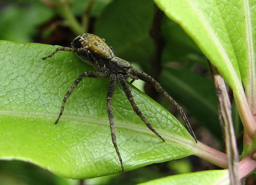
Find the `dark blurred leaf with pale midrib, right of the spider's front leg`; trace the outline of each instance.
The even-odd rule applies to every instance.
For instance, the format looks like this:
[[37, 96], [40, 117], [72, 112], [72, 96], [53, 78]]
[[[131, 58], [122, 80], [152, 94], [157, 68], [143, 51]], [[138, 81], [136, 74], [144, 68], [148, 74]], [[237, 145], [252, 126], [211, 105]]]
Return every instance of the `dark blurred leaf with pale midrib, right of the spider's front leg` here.
[[187, 70], [165, 67], [159, 81], [167, 93], [181, 105], [185, 105], [189, 113], [222, 140], [212, 80]]

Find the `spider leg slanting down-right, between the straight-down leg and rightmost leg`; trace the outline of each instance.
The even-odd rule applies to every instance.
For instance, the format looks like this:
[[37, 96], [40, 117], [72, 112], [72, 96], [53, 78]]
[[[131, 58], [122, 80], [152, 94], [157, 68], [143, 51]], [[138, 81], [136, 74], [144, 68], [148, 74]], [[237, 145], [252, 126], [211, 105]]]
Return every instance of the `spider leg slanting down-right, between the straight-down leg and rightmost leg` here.
[[144, 117], [144, 115], [140, 112], [139, 108], [137, 107], [137, 105], [135, 104], [131, 91], [125, 81], [125, 78], [122, 74], [118, 74], [117, 75], [118, 80], [126, 94], [126, 97], [128, 99], [128, 101], [131, 104], [132, 109], [134, 110], [134, 112], [140, 117], [140, 119], [146, 124], [146, 126], [154, 133], [156, 134], [161, 140], [163, 140], [165, 142], [165, 139], [153, 128], [153, 126], [149, 123], [149, 121]]

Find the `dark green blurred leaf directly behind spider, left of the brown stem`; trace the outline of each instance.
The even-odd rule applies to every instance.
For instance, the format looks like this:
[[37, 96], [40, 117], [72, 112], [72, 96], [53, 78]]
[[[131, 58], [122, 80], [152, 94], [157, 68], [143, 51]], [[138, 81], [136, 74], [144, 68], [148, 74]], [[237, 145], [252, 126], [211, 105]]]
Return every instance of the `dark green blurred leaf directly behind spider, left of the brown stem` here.
[[118, 57], [148, 69], [153, 51], [149, 36], [153, 14], [153, 1], [113, 0], [96, 22], [94, 34], [106, 39]]

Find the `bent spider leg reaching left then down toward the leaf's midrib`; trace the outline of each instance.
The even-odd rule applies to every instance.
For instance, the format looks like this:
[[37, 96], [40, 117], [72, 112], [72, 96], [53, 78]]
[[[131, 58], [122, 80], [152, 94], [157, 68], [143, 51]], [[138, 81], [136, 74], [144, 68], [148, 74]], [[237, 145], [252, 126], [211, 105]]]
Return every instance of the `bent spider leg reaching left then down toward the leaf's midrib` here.
[[76, 86], [79, 84], [79, 82], [81, 82], [81, 80], [83, 79], [83, 77], [91, 77], [91, 78], [106, 78], [108, 76], [108, 73], [106, 72], [84, 72], [82, 73], [81, 75], [79, 75], [76, 79], [76, 81], [72, 84], [72, 86], [68, 89], [67, 93], [65, 94], [64, 96], [64, 99], [62, 101], [62, 105], [61, 105], [61, 109], [60, 109], [60, 112], [59, 112], [59, 116], [58, 118], [56, 119], [55, 121], [55, 124], [58, 123], [62, 113], [63, 113], [63, 110], [64, 110], [64, 107], [65, 107], [65, 103], [66, 103], [66, 100], [68, 99], [68, 97], [70, 96], [70, 94], [74, 91], [74, 89], [76, 88]]

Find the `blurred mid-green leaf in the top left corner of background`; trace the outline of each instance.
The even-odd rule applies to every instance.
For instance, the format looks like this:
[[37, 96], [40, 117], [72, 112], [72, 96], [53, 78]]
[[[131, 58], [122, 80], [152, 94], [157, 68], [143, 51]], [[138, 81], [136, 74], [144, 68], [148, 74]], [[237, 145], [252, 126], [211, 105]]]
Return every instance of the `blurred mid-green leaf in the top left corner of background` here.
[[10, 4], [0, 11], [0, 40], [32, 41], [39, 25], [53, 16], [41, 3]]

